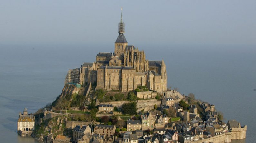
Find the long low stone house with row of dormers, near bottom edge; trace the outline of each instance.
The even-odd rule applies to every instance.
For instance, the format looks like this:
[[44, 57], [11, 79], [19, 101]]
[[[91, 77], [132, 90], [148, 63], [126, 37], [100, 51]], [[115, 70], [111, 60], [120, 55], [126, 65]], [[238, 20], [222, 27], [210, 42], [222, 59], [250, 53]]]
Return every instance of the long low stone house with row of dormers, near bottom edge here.
[[116, 125], [95, 125], [94, 126], [94, 133], [106, 135], [108, 137], [112, 137], [115, 133]]

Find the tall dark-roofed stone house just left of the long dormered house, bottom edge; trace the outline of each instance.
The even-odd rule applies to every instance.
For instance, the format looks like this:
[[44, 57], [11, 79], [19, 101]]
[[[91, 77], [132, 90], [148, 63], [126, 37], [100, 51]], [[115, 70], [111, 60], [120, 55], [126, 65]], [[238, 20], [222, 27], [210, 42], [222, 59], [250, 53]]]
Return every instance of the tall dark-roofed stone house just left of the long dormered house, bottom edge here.
[[87, 133], [88, 134], [91, 133], [91, 128], [89, 126], [85, 126], [85, 125], [76, 126], [75, 128], [73, 128], [73, 142], [77, 143], [78, 139], [81, 139], [81, 140], [88, 139], [87, 136], [85, 136], [85, 134]]

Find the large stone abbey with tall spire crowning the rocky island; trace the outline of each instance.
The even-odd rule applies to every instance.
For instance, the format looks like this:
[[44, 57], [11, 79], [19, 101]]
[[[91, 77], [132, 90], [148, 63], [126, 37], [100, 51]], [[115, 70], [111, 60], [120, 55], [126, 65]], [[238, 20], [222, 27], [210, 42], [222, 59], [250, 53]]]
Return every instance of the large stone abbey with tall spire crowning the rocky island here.
[[69, 70], [65, 85], [96, 85], [96, 89], [128, 92], [137, 86], [161, 92], [167, 88], [167, 73], [164, 60], [150, 61], [144, 51], [128, 45], [124, 36], [124, 23], [119, 23], [114, 52], [99, 52], [96, 61], [84, 63], [80, 68]]

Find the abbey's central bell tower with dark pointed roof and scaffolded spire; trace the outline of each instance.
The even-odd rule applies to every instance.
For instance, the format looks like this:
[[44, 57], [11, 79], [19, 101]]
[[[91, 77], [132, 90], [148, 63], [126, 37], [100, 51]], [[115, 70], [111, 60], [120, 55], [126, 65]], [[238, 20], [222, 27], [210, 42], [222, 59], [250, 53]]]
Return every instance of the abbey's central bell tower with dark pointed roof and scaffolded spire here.
[[125, 47], [128, 45], [124, 36], [124, 22], [123, 22], [122, 10], [123, 8], [121, 8], [121, 21], [118, 24], [119, 35], [115, 42], [115, 55], [118, 55], [119, 57], [122, 57], [122, 55], [124, 55]]

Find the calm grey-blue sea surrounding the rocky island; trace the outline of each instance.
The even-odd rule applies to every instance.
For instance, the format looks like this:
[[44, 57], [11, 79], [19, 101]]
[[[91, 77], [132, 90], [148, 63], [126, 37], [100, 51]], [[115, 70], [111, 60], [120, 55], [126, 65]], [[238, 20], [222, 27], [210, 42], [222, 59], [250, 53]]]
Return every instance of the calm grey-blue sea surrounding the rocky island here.
[[[247, 139], [234, 143], [255, 142], [256, 48], [199, 47], [141, 44], [140, 49], [149, 60], [165, 60], [168, 85], [215, 104], [226, 121], [247, 125]], [[68, 69], [93, 62], [97, 52], [113, 50], [111, 44], [0, 45], [0, 142], [37, 142], [17, 135], [18, 113], [24, 107], [33, 113], [52, 102], [62, 91]]]

